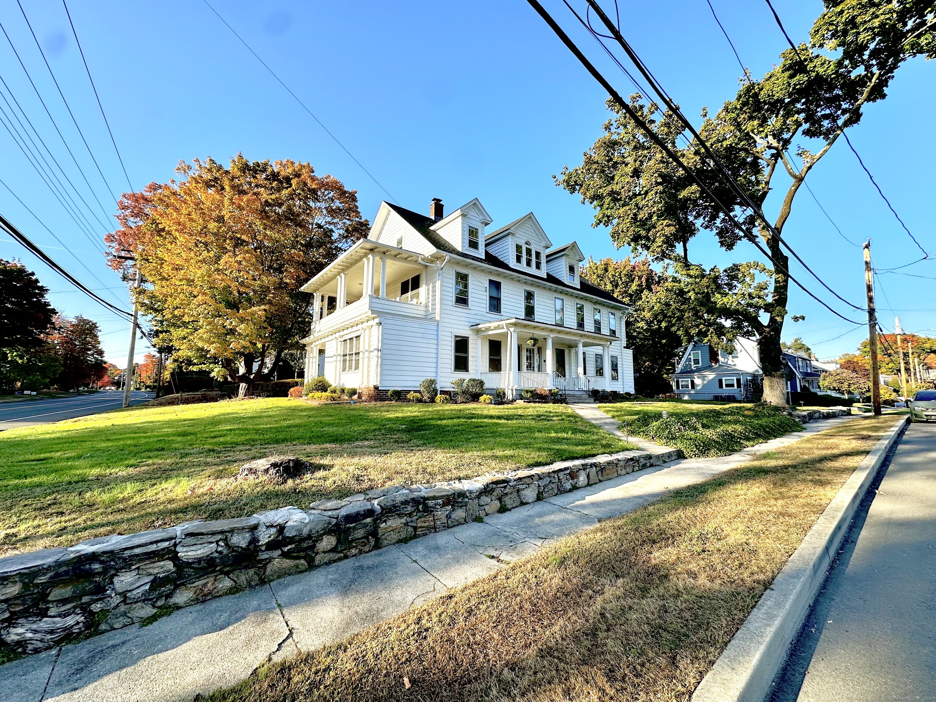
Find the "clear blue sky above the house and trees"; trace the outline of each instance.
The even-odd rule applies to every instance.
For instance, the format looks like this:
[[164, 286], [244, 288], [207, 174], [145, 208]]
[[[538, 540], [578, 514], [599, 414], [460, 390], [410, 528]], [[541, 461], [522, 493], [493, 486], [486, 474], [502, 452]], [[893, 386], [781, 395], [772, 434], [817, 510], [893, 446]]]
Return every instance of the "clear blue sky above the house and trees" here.
[[[581, 0], [577, 4], [584, 7]], [[766, 4], [736, 0], [712, 0], [712, 4], [745, 65], [755, 76], [763, 75], [785, 46]], [[525, 2], [212, 0], [212, 5], [402, 206], [428, 213], [431, 198], [442, 197], [450, 211], [479, 197], [494, 217], [494, 226], [533, 211], [555, 243], [578, 240], [586, 256], [596, 258], [626, 255], [614, 248], [607, 231], [591, 227], [591, 208], [555, 187], [551, 178], [565, 165], [578, 165], [581, 153], [599, 135], [607, 119], [607, 95]], [[578, 30], [561, 2], [548, 0], [545, 5], [622, 94], [634, 92], [593, 40]], [[110, 183], [110, 193], [71, 123], [16, 3], [0, 7], [0, 22], [100, 207], [5, 37], [0, 37], [0, 75], [104, 222], [92, 220], [93, 236], [99, 239], [105, 224], [113, 227], [114, 196], [128, 186], [61, 0], [32, 0], [23, 7]], [[778, 0], [775, 7], [795, 40], [807, 36], [821, 10], [819, 2], [791, 0]], [[388, 198], [201, 0], [157, 4], [72, 0], [69, 9], [134, 187], [165, 182], [180, 159], [211, 155], [227, 160], [242, 152], [252, 159], [310, 161], [319, 173], [331, 173], [357, 189], [361, 212], [368, 218], [373, 218], [380, 200]], [[624, 35], [687, 115], [697, 117], [704, 106], [717, 109], [735, 94], [740, 69], [705, 0], [622, 2], [621, 10]], [[7, 110], [2, 100], [0, 104]], [[885, 193], [928, 251], [936, 251], [930, 212], [936, 186], [936, 173], [930, 168], [934, 109], [936, 66], [914, 61], [901, 67], [890, 96], [870, 106], [862, 123], [850, 132]], [[0, 178], [66, 247], [2, 186], [0, 212], [83, 283], [106, 288], [101, 294], [128, 306], [119, 276], [105, 266], [93, 241], [51, 196], [2, 127], [0, 149]], [[877, 267], [891, 268], [919, 257], [844, 143], [834, 147], [809, 182], [845, 236], [855, 242], [872, 238]], [[768, 212], [775, 209], [775, 201], [768, 204]], [[805, 191], [797, 196], [796, 212], [784, 236], [829, 285], [863, 304], [860, 248], [841, 239]], [[755, 252], [744, 244], [735, 254], [725, 255], [702, 234], [691, 244], [690, 255], [711, 265], [751, 259]], [[124, 366], [128, 324], [75, 292], [5, 236], [0, 237], [0, 257], [22, 258], [37, 271], [52, 291], [53, 304], [64, 314], [95, 319], [107, 357]], [[892, 328], [894, 314], [900, 314], [905, 330], [936, 327], [932, 280], [936, 264], [927, 261], [901, 272], [931, 277], [882, 276], [883, 289], [878, 286], [877, 292], [885, 327]], [[810, 280], [804, 271], [799, 270], [799, 276], [804, 282]], [[820, 291], [814, 281], [809, 286]], [[821, 297], [831, 300], [822, 292]], [[851, 325], [797, 289], [789, 307], [791, 314], [805, 314], [806, 320], [788, 321], [784, 339], [801, 336], [820, 358], [854, 350], [864, 333], [862, 328], [849, 331]], [[862, 319], [841, 303], [838, 309]], [[831, 341], [844, 332], [848, 333]], [[141, 358], [146, 346], [137, 348]]]

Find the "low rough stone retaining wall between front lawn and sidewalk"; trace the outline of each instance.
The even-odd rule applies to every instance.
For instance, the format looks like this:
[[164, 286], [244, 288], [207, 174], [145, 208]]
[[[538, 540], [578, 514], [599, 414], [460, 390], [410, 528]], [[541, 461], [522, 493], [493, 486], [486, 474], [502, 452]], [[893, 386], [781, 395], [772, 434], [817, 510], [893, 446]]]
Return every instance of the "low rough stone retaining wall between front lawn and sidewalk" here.
[[0, 559], [0, 651], [44, 651], [680, 457], [623, 451], [10, 556]]

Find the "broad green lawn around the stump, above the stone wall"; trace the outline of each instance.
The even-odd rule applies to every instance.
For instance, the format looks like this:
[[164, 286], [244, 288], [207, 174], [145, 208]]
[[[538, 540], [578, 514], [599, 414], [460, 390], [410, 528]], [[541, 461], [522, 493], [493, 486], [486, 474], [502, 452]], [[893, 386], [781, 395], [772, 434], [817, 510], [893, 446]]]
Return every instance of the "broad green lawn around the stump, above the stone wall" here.
[[[626, 447], [564, 405], [143, 405], [0, 432], [0, 556]], [[236, 479], [272, 454], [317, 470]]]

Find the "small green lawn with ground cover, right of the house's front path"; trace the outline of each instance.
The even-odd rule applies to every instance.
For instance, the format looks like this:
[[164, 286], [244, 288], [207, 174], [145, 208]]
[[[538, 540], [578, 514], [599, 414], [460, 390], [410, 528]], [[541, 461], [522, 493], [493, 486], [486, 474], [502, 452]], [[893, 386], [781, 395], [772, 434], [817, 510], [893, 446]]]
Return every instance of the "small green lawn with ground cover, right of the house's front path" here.
[[802, 429], [796, 419], [762, 404], [617, 402], [598, 406], [627, 422], [631, 435], [681, 448], [688, 458], [726, 456]]

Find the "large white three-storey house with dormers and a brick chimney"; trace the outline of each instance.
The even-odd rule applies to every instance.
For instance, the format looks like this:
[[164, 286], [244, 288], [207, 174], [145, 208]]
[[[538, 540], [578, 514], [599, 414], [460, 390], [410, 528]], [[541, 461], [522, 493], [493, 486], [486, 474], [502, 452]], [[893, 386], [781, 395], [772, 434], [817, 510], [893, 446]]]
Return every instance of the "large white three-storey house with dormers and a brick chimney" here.
[[634, 391], [630, 308], [579, 280], [573, 241], [553, 248], [533, 212], [487, 231], [475, 198], [429, 217], [382, 202], [367, 239], [302, 286], [314, 295], [305, 377], [360, 388]]

